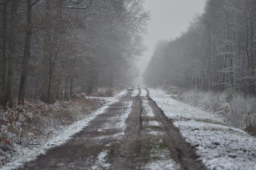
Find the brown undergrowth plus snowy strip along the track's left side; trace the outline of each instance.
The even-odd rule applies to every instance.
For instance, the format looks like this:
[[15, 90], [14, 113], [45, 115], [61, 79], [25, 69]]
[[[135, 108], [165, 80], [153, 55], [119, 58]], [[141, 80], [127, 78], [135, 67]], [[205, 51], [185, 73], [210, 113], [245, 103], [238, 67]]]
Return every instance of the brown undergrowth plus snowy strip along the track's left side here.
[[[126, 91], [122, 91], [120, 94], [125, 93]], [[116, 98], [88, 98], [78, 95], [70, 101], [58, 101], [54, 105], [26, 101], [25, 106], [1, 109], [0, 139], [4, 139], [0, 140], [2, 164], [15, 160], [5, 166], [5, 169], [11, 169], [66, 142], [116, 101]], [[91, 114], [107, 102], [110, 103]]]

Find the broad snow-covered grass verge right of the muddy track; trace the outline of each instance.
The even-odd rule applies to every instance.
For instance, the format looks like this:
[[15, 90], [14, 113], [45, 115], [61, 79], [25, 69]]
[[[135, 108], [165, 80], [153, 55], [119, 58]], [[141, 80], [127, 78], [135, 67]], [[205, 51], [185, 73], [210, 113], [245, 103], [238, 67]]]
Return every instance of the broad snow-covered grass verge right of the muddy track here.
[[172, 99], [164, 91], [149, 89], [151, 98], [172, 119], [195, 147], [209, 170], [256, 169], [256, 138], [228, 127], [218, 114], [207, 113]]

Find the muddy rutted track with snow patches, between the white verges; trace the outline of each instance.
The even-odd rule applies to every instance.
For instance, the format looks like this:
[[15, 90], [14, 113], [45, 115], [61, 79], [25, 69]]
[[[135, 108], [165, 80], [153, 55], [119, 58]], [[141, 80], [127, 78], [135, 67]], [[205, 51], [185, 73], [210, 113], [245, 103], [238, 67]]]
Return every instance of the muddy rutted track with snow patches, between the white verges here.
[[149, 91], [132, 94], [128, 89], [69, 142], [20, 170], [204, 170]]

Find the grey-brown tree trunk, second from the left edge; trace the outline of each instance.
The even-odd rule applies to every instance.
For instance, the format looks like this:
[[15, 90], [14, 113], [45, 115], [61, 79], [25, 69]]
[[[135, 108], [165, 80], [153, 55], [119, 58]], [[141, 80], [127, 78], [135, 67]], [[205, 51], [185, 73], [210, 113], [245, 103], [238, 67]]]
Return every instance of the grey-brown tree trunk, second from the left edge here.
[[17, 28], [17, 9], [18, 0], [12, 0], [11, 20], [10, 20], [10, 58], [8, 59], [8, 72], [6, 83], [5, 102], [9, 102], [10, 107], [13, 106], [13, 88], [14, 88], [14, 69], [15, 62], [15, 28]]

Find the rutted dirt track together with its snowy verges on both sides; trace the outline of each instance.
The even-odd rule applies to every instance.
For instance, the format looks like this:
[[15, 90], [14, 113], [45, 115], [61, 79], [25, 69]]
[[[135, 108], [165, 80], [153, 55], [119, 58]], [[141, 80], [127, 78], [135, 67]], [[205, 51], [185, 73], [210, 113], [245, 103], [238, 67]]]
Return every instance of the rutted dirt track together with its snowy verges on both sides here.
[[3, 169], [250, 170], [255, 141], [163, 91], [128, 89], [48, 142], [41, 155]]

